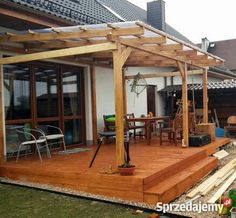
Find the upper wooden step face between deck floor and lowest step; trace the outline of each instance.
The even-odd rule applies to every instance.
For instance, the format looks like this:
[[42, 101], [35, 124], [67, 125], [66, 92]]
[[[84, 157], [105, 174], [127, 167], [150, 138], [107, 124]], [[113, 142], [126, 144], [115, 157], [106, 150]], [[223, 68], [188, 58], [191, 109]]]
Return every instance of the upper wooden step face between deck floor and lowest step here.
[[153, 173], [150, 176], [144, 178], [144, 190], [151, 188], [153, 185], [160, 183], [174, 174], [186, 169], [192, 164], [199, 162], [207, 157], [207, 154], [204, 150], [199, 151], [187, 158], [184, 158], [181, 161], [176, 161], [174, 164], [170, 164], [168, 167], [165, 167], [162, 170], [158, 170], [156, 173]]

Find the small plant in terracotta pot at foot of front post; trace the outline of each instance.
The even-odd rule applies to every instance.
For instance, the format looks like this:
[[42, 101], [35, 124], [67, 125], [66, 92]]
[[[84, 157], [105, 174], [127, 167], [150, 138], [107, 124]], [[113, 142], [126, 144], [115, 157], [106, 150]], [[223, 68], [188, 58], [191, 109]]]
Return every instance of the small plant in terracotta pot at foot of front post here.
[[134, 174], [135, 165], [130, 163], [129, 142], [125, 142], [125, 153], [124, 164], [118, 166], [118, 171], [121, 176], [130, 176]]

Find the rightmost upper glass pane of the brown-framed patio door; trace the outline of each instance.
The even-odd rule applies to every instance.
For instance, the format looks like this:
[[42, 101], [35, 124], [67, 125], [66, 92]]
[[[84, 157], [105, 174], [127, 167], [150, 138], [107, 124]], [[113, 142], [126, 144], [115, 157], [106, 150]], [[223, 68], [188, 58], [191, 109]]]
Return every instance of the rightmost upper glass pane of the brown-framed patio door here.
[[64, 115], [81, 114], [80, 75], [74, 72], [63, 73]]

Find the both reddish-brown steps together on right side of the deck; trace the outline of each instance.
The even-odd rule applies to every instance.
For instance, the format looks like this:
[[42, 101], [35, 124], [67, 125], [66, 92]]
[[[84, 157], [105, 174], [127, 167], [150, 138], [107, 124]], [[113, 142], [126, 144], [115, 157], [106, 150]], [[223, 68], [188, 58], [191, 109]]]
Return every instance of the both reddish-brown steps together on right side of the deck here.
[[159, 175], [150, 181], [144, 180], [144, 202], [156, 204], [157, 202], [169, 203], [180, 196], [202, 177], [209, 174], [217, 167], [217, 159], [199, 153], [184, 160], [178, 165], [170, 167], [169, 171], [158, 172]]

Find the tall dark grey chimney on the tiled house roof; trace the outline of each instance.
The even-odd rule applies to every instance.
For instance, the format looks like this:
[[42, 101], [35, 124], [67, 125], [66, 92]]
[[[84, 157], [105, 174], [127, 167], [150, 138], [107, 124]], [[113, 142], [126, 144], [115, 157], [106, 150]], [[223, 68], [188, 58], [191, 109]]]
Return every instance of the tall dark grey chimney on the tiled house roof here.
[[161, 31], [166, 31], [165, 2], [163, 0], [147, 3], [147, 22]]

